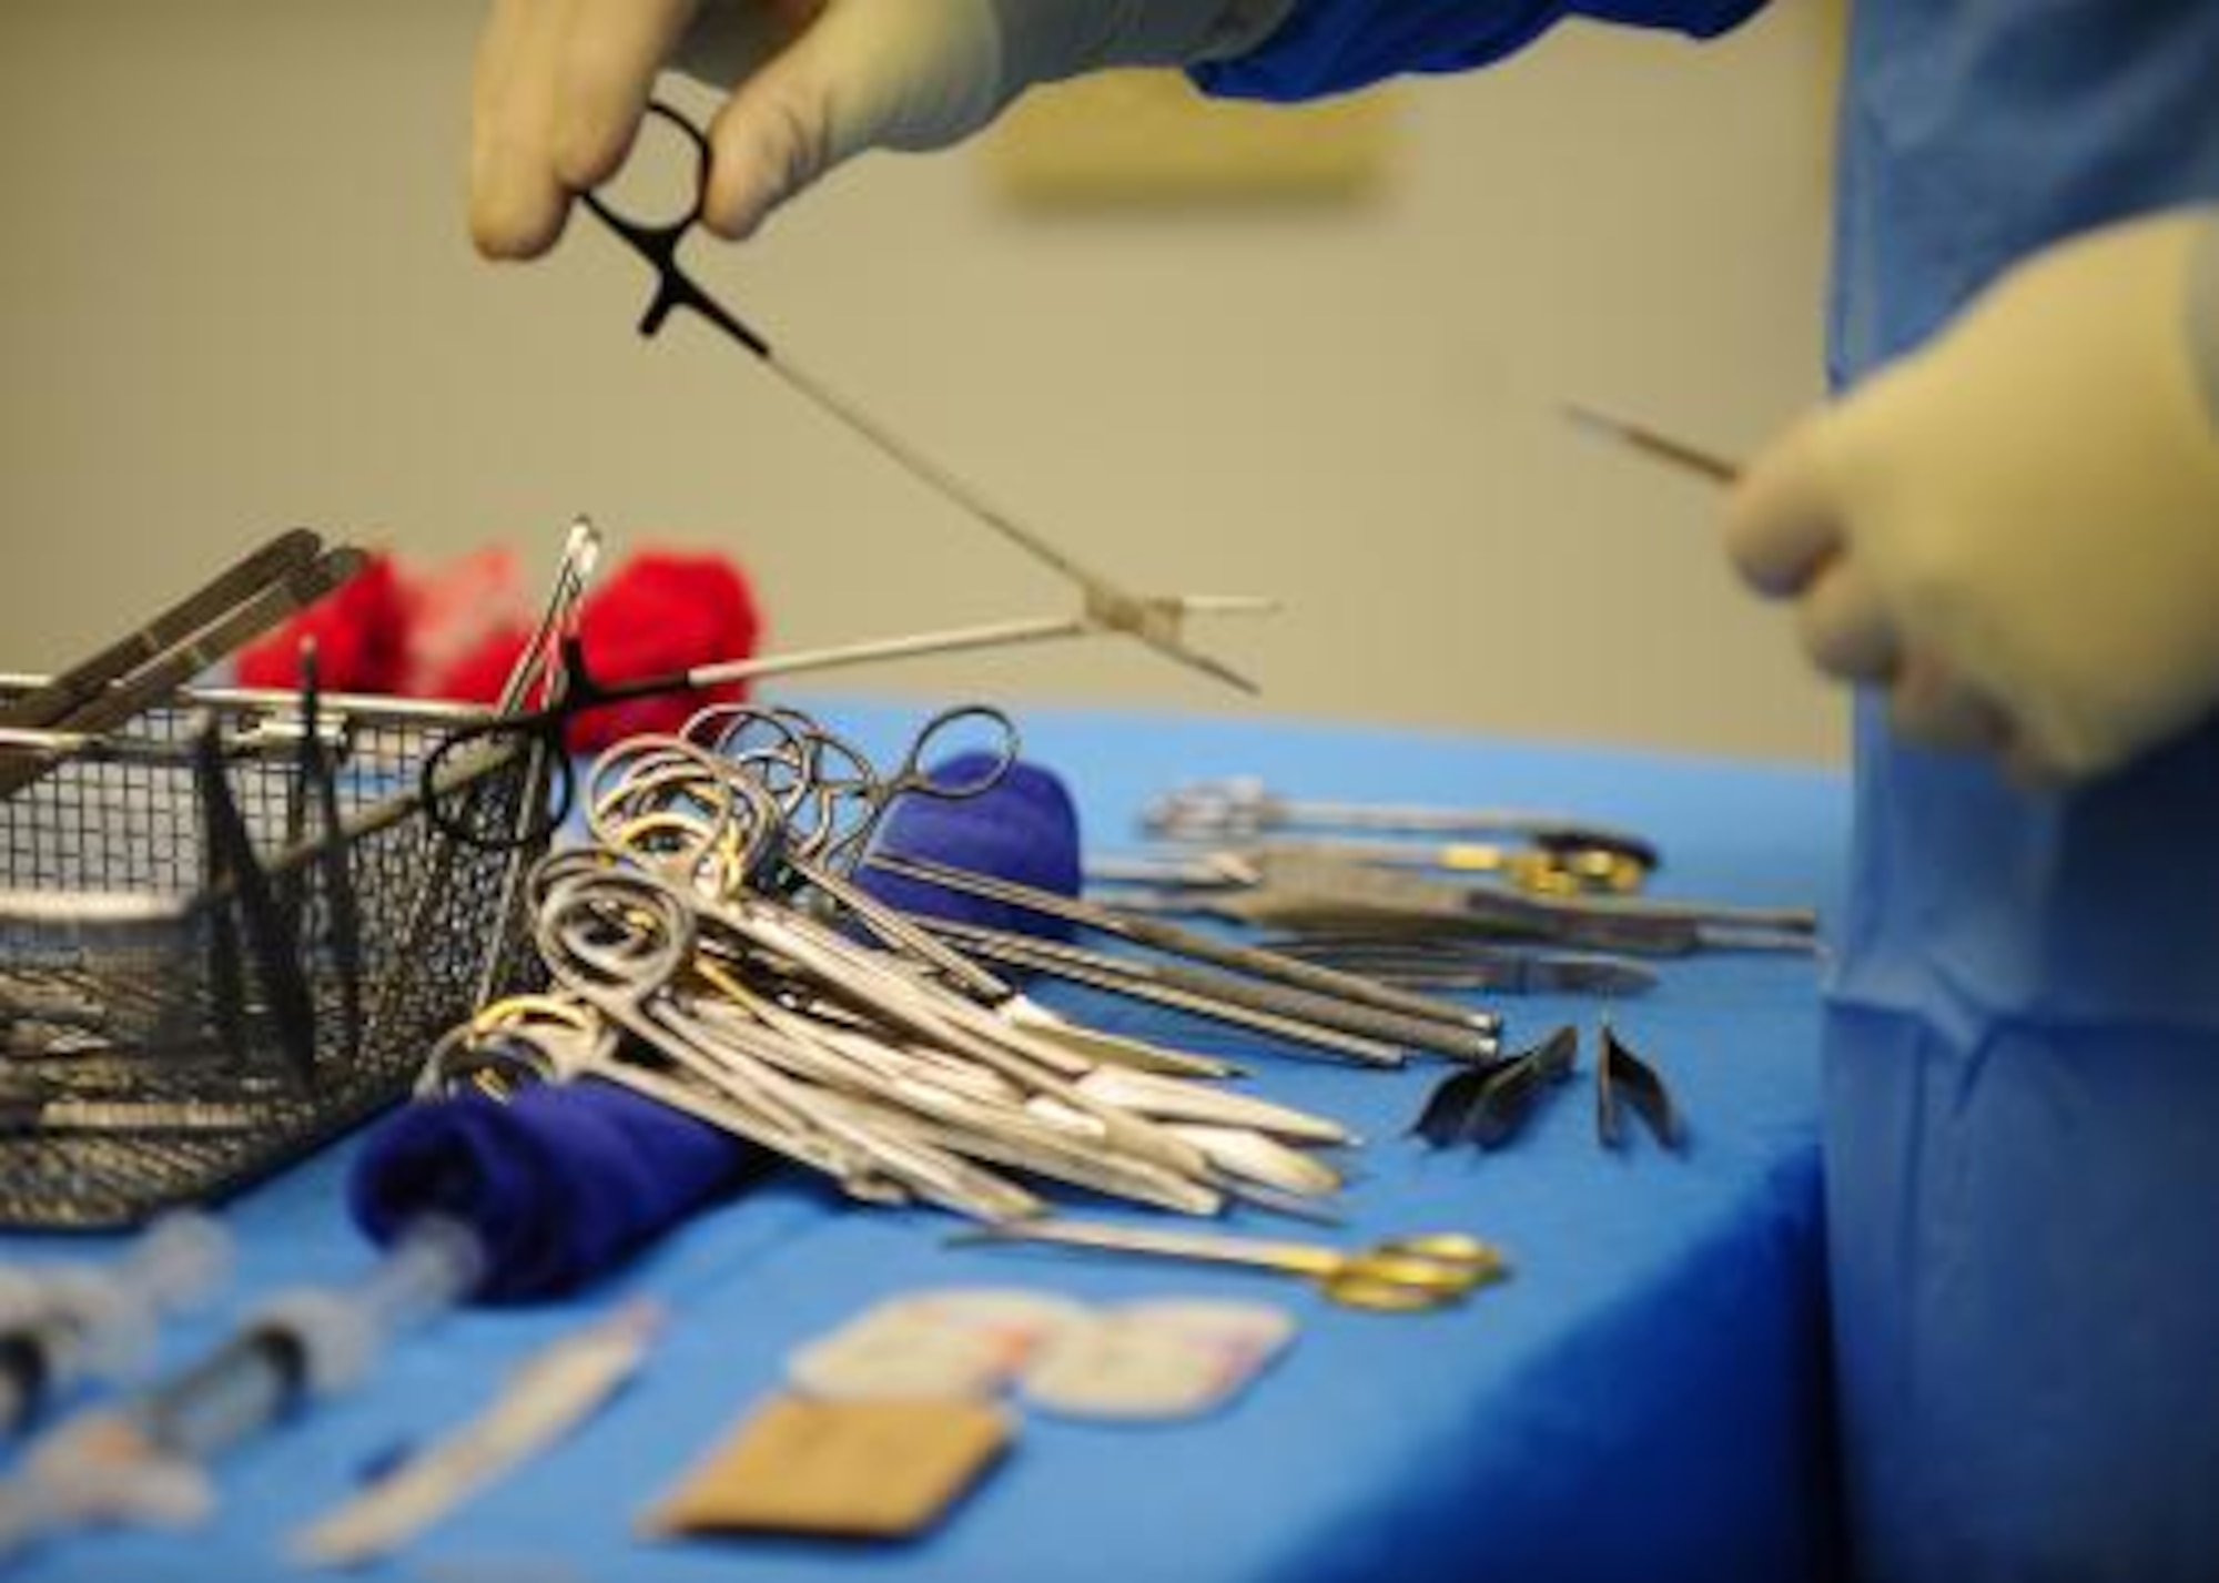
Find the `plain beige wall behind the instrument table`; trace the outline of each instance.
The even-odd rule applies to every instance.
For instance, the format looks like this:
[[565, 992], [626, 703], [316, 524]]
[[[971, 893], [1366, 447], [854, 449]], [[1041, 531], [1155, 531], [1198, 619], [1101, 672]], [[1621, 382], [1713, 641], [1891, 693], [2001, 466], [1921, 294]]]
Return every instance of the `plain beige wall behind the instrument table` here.
[[[284, 523], [417, 554], [570, 512], [715, 543], [781, 645], [1061, 588], [706, 335], [644, 346], [579, 228], [459, 228], [477, 7], [0, 4], [0, 667]], [[1338, 211], [1027, 217], [879, 160], [701, 259], [794, 357], [1136, 583], [1271, 590], [1260, 707], [1835, 756], [1842, 709], [1718, 561], [1702, 486], [1564, 397], [1746, 448], [1811, 399], [1828, 7], [1713, 49], [1569, 29], [1402, 95]], [[881, 672], [932, 696], [1249, 707], [1123, 645]]]

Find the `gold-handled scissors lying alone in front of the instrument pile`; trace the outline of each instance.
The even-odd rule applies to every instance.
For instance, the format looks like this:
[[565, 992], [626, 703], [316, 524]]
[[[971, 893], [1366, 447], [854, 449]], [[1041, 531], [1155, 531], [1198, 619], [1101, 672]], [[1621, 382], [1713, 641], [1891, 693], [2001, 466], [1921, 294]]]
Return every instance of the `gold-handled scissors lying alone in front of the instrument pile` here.
[[1425, 1313], [1462, 1301], [1465, 1293], [1509, 1275], [1509, 1262], [1491, 1242], [1460, 1230], [1429, 1230], [1387, 1237], [1362, 1248], [1329, 1248], [1316, 1242], [1267, 1242], [1198, 1230], [1149, 1230], [1112, 1222], [1030, 1219], [979, 1226], [948, 1239], [950, 1246], [985, 1242], [1050, 1242], [1098, 1253], [1136, 1253], [1158, 1259], [1245, 1264], [1311, 1281], [1345, 1308], [1378, 1313]]

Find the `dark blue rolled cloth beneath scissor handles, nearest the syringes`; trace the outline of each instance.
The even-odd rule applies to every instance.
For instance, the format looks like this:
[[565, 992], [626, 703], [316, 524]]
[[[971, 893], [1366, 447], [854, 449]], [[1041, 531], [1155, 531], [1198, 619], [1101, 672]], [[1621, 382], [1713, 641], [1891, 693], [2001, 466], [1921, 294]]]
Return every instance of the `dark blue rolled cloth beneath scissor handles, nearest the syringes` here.
[[477, 1233], [482, 1301], [575, 1290], [770, 1155], [706, 1122], [590, 1078], [508, 1102], [419, 1100], [355, 1160], [348, 1204], [379, 1246], [422, 1215]]

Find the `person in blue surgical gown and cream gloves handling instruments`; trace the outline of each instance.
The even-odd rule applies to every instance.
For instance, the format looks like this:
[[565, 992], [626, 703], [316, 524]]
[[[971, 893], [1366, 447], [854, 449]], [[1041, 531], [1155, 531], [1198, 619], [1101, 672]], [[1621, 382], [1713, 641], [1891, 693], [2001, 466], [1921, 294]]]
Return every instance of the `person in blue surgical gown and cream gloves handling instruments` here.
[[[473, 233], [553, 246], [655, 73], [728, 237], [1034, 82], [1300, 100], [1757, 0], [497, 0]], [[1476, 193], [1480, 202], [1485, 195]], [[1826, 1035], [1853, 1567], [2219, 1579], [2219, 4], [1857, 0], [1833, 384], [1726, 550], [1862, 687]]]

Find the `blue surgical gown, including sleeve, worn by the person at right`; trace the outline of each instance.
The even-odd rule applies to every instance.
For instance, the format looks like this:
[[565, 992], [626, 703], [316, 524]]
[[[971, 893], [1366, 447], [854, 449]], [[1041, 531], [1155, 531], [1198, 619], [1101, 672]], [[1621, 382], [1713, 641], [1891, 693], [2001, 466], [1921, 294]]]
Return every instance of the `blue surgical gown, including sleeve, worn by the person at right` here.
[[[1196, 78], [1305, 98], [1573, 16], [1753, 9], [1298, 0]], [[2219, 0], [1860, 0], [1840, 137], [1848, 386], [2048, 242], [2219, 202]], [[1826, 1015], [1853, 1567], [2219, 1579], [2219, 721], [2059, 798], [1864, 701], [1855, 774]]]

